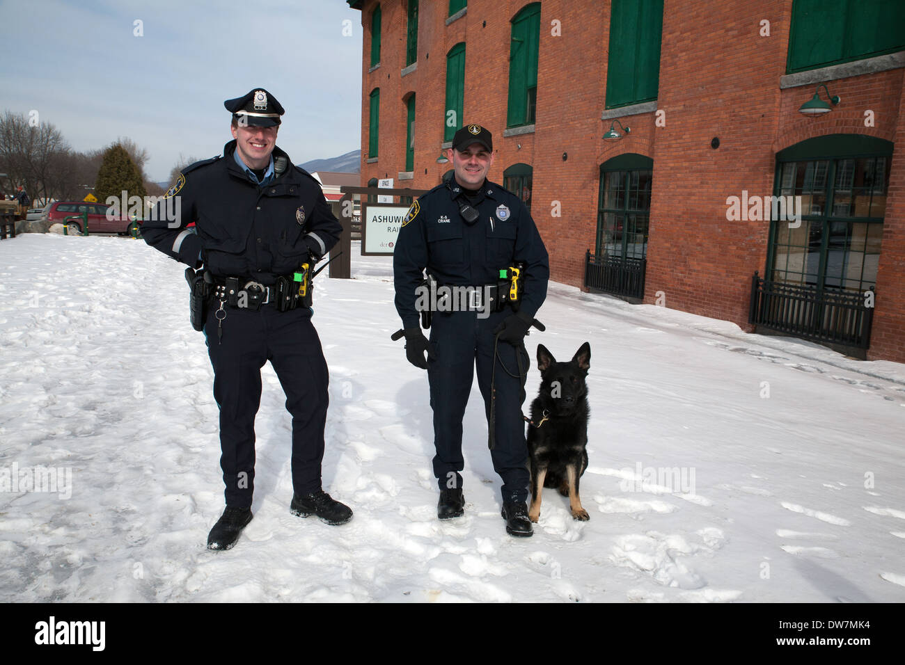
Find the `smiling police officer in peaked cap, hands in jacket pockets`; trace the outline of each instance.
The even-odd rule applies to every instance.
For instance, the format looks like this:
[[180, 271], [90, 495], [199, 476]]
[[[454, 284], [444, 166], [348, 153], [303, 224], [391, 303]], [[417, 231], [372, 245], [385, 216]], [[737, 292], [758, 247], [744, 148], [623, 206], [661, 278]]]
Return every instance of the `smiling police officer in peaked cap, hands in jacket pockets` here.
[[276, 147], [280, 102], [259, 88], [224, 106], [233, 114], [234, 140], [223, 157], [187, 166], [141, 224], [149, 245], [206, 270], [195, 285], [210, 294], [204, 329], [226, 486], [210, 549], [232, 547], [252, 519], [254, 417], [268, 360], [292, 414], [291, 512], [332, 525], [352, 517], [321, 489], [329, 377], [312, 310], [301, 296], [307, 296], [305, 264], [310, 275], [342, 227], [318, 182]]

